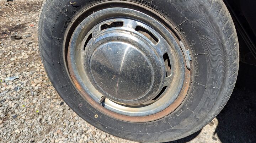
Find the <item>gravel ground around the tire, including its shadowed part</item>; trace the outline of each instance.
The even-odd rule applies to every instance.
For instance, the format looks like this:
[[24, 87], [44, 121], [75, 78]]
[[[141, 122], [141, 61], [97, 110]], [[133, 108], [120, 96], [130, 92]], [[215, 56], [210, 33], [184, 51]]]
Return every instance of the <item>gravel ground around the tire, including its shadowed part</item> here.
[[[37, 23], [42, 2], [0, 2], [0, 142], [130, 142], [82, 120], [53, 88], [38, 49]], [[11, 40], [13, 34], [22, 39]], [[174, 142], [256, 142], [255, 125], [241, 123], [255, 122], [254, 88], [242, 85], [234, 92], [236, 96], [230, 98], [234, 101], [224, 108], [226, 114], [221, 112], [201, 131]], [[236, 106], [238, 101], [243, 108]]]

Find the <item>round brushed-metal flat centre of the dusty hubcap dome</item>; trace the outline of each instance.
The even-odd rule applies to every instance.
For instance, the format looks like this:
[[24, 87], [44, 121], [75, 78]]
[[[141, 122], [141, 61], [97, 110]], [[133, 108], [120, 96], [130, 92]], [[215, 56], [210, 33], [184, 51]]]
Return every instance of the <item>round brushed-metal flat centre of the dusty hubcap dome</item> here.
[[103, 95], [134, 101], [147, 95], [154, 81], [153, 67], [142, 51], [125, 42], [107, 42], [94, 50], [91, 74]]

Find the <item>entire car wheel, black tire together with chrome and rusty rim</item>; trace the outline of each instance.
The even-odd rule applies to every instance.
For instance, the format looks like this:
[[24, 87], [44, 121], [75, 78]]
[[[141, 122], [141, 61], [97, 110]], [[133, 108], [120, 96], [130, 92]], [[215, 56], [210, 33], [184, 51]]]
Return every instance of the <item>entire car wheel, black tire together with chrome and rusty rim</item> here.
[[197, 132], [223, 109], [238, 74], [238, 39], [222, 0], [47, 0], [38, 34], [66, 104], [132, 141]]

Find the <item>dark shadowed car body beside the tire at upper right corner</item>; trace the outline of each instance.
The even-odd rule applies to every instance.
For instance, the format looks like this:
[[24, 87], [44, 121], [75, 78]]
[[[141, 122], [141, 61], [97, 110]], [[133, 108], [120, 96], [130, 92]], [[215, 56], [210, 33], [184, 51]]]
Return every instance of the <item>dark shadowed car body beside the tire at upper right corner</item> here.
[[256, 65], [256, 1], [224, 0], [233, 18], [240, 46], [240, 61]]

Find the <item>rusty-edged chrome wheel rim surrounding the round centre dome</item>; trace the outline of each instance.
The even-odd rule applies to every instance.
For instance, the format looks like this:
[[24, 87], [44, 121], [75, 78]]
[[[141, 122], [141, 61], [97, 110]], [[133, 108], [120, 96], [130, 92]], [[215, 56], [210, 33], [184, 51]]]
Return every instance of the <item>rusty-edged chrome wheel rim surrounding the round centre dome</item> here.
[[[120, 16], [114, 16], [111, 19], [108, 18], [105, 20], [98, 20], [101, 22], [98, 22], [95, 24], [95, 23], [91, 22], [92, 18], [94, 20], [97, 18], [98, 19], [101, 18], [101, 16], [97, 17], [97, 12], [95, 12], [96, 16], [90, 15], [89, 17], [86, 18], [85, 21], [81, 22], [80, 26], [78, 26], [76, 28], [75, 32], [73, 33], [73, 35], [71, 37], [71, 40], [69, 43], [69, 48], [68, 48], [68, 54], [67, 54], [67, 63], [68, 63], [68, 71], [69, 71], [71, 80], [74, 83], [74, 86], [79, 91], [81, 96], [85, 99], [85, 101], [87, 101], [90, 105], [92, 105], [94, 108], [98, 109], [99, 111], [103, 112], [104, 114], [106, 114], [108, 116], [112, 116], [119, 120], [124, 120], [124, 121], [129, 121], [129, 122], [147, 122], [147, 121], [154, 121], [154, 120], [160, 119], [160, 118], [170, 114], [175, 109], [177, 109], [177, 107], [182, 103], [183, 99], [186, 97], [186, 94], [187, 94], [187, 91], [188, 91], [189, 85], [190, 85], [190, 75], [191, 75], [190, 70], [188, 70], [186, 68], [186, 63], [185, 63], [186, 59], [184, 57], [184, 54], [182, 53], [182, 49], [178, 45], [179, 41], [177, 40], [177, 37], [175, 37], [174, 34], [172, 32], [170, 32], [168, 29], [166, 29], [160, 22], [156, 21], [152, 17], [146, 16], [144, 13], [141, 13], [139, 11], [135, 11], [135, 10], [131, 10], [131, 9], [112, 8], [112, 9], [105, 9], [105, 10], [98, 11], [98, 13], [99, 13], [98, 15], [100, 15], [100, 13], [106, 13], [106, 11], [110, 15], [111, 15], [111, 12], [115, 13], [115, 14], [118, 13], [119, 15], [122, 15], [125, 18], [123, 18], [123, 17], [118, 18]], [[134, 15], [128, 16], [126, 13], [129, 13], [129, 14], [134, 13]], [[152, 26], [148, 23], [144, 23], [141, 20], [137, 21], [135, 19], [136, 16], [146, 17], [145, 19], [150, 21], [151, 24], [154, 24], [154, 26]], [[91, 20], [90, 20], [90, 18], [91, 18]], [[129, 35], [131, 35], [131, 34], [139, 35], [138, 37], [133, 36], [132, 38], [135, 38], [135, 39], [141, 38], [144, 40], [146, 39], [146, 42], [150, 43], [151, 47], [160, 48], [160, 46], [159, 47], [153, 46], [154, 43], [152, 41], [150, 42], [150, 39], [147, 37], [148, 35], [143, 34], [143, 33], [136, 33], [134, 31], [135, 26], [141, 26], [145, 29], [148, 29], [150, 32], [152, 32], [154, 35], [156, 35], [156, 37], [159, 38], [159, 41], [161, 41], [160, 39], [166, 39], [166, 38], [169, 39], [168, 41], [165, 40], [165, 44], [167, 43], [166, 45], [161, 43], [161, 46], [163, 46], [163, 45], [167, 46], [169, 48], [168, 52], [170, 53], [170, 55], [175, 56], [174, 54], [176, 54], [176, 59], [175, 59], [175, 57], [171, 57], [172, 61], [175, 62], [175, 60], [176, 60], [176, 63], [172, 63], [173, 68], [178, 67], [180, 65], [182, 65], [182, 66], [180, 66], [180, 68], [178, 70], [177, 69], [172, 70], [172, 73], [170, 73], [170, 75], [176, 74], [176, 77], [172, 77], [172, 78], [176, 78], [176, 79], [173, 79], [171, 81], [169, 80], [169, 82], [166, 82], [166, 83], [164, 83], [164, 82], [160, 83], [160, 86], [158, 86], [158, 90], [156, 93], [161, 92], [162, 87], [164, 87], [166, 84], [176, 84], [175, 89], [177, 89], [177, 86], [179, 86], [179, 90], [175, 90], [177, 95], [176, 95], [176, 97], [172, 96], [173, 101], [169, 100], [170, 102], [168, 104], [164, 103], [164, 101], [166, 101], [166, 99], [168, 99], [167, 98], [168, 95], [170, 95], [170, 93], [174, 93], [174, 90], [172, 88], [167, 88], [165, 90], [164, 94], [162, 94], [159, 97], [159, 99], [157, 99], [156, 101], [151, 101], [151, 99], [155, 98], [155, 96], [156, 96], [156, 93], [155, 93], [153, 96], [151, 96], [151, 97], [149, 96], [150, 101], [149, 100], [145, 100], [145, 101], [142, 100], [142, 102], [136, 101], [138, 104], [136, 102], [135, 102], [136, 104], [127, 104], [128, 102], [122, 103], [122, 102], [120, 102], [120, 100], [114, 100], [113, 98], [108, 97], [108, 95], [104, 94], [104, 91], [103, 92], [99, 91], [99, 90], [101, 90], [100, 86], [98, 86], [97, 83], [92, 84], [93, 82], [95, 82], [95, 77], [93, 75], [90, 77], [90, 74], [86, 73], [87, 79], [86, 80], [81, 79], [81, 76], [79, 76], [79, 74], [81, 75], [81, 73], [79, 73], [78, 65], [84, 65], [85, 66], [83, 69], [84, 71], [86, 71], [86, 70], [88, 71], [88, 69], [91, 70], [90, 66], [92, 64], [91, 64], [90, 59], [93, 59], [92, 55], [95, 54], [95, 51], [98, 50], [97, 48], [102, 47], [102, 45], [100, 45], [100, 44], [97, 45], [97, 42], [106, 38], [106, 37], [99, 38], [99, 37], [102, 37], [102, 35], [100, 35], [101, 34], [100, 28], [103, 24], [111, 23], [111, 22], [112, 23], [113, 22], [123, 22], [125, 27], [122, 26], [123, 29], [120, 27], [111, 27], [112, 29], [111, 28], [104, 29], [105, 31], [104, 30], [103, 31], [105, 33], [102, 32], [103, 33], [102, 35], [106, 35], [107, 32], [108, 32], [108, 34], [110, 33], [109, 34], [110, 36], [107, 37], [108, 40], [110, 40], [110, 41], [111, 41], [111, 37], [113, 37], [113, 35], [111, 35], [111, 32], [112, 33], [119, 32], [121, 34], [123, 34], [122, 32], [126, 32], [126, 33], [129, 32]], [[130, 24], [130, 25], [128, 24], [127, 25], [127, 22], [128, 23], [136, 23], [136, 24]], [[92, 26], [92, 28], [89, 31], [86, 30], [85, 26], [89, 27], [92, 23], [94, 24], [94, 26]], [[133, 28], [131, 28], [129, 26], [131, 26]], [[127, 29], [127, 27], [129, 27], [130, 29]], [[155, 27], [160, 27], [160, 28], [155, 30]], [[91, 33], [95, 32], [94, 31], [95, 29], [98, 29], [98, 31], [96, 32], [97, 34], [95, 34], [95, 37], [94, 36], [91, 37], [91, 39], [94, 39], [94, 40], [88, 41], [87, 40], [88, 37], [90, 37]], [[131, 31], [131, 29], [133, 29], [133, 31]], [[165, 33], [164, 36], [162, 36], [161, 34], [165, 30], [167, 32]], [[120, 32], [120, 31], [122, 31], [122, 32]], [[116, 36], [116, 35], [114, 35], [114, 36]], [[97, 38], [98, 38], [98, 40], [97, 40]], [[119, 40], [118, 42], [120, 42], [120, 39], [118, 39], [118, 40]], [[113, 44], [120, 44], [118, 42], [112, 42], [112, 43], [109, 42], [108, 43], [106, 41], [103, 41], [102, 43], [105, 43], [105, 44], [107, 43], [108, 46], [112, 44], [111, 46], [114, 47]], [[84, 46], [85, 43], [88, 46]], [[124, 41], [124, 43], [127, 43], [127, 41]], [[141, 41], [139, 41], [138, 43], [141, 43]], [[94, 48], [94, 49], [91, 48], [93, 45], [97, 45], [96, 48]], [[136, 45], [136, 44], [132, 44], [132, 46], [133, 45]], [[81, 48], [84, 48], [84, 49], [81, 50]], [[135, 47], [135, 48], [137, 48], [137, 47]], [[75, 50], [75, 49], [80, 49], [80, 50]], [[97, 49], [97, 50], [95, 50], [95, 49]], [[102, 49], [103, 49], [103, 51], [106, 50], [106, 48], [104, 49], [104, 47]], [[77, 58], [80, 56], [78, 54], [79, 53], [78, 51], [82, 51], [82, 52], [87, 51], [87, 52], [84, 52], [87, 54], [87, 55], [85, 54], [86, 56], [82, 56], [81, 52], [80, 52], [80, 55], [81, 55], [80, 60], [82, 59], [80, 64], [78, 64], [79, 58]], [[179, 53], [177, 53], [177, 51], [179, 51]], [[168, 53], [168, 52], [166, 52], [166, 53]], [[76, 54], [74, 54], [74, 53], [76, 53]], [[163, 52], [161, 50], [159, 53], [163, 54]], [[96, 53], [96, 55], [97, 55], [97, 53]], [[98, 57], [98, 55], [96, 57]], [[180, 58], [177, 58], [177, 57], [180, 57]], [[150, 59], [150, 58], [148, 58], [148, 59]], [[161, 63], [160, 68], [166, 67], [164, 60], [162, 60], [160, 63]], [[88, 65], [90, 65], [90, 66], [88, 66]], [[156, 69], [153, 68], [153, 70], [155, 71]], [[164, 68], [164, 72], [166, 73], [166, 68]], [[92, 71], [89, 71], [89, 73], [92, 73]], [[182, 79], [178, 78], [178, 76], [181, 76]], [[165, 81], [165, 77], [163, 76], [163, 74], [161, 74], [160, 77], [161, 77], [160, 81]], [[88, 84], [85, 84], [86, 82], [91, 84], [91, 86], [89, 86]], [[170, 85], [168, 85], [168, 86], [170, 86]], [[88, 91], [90, 91], [90, 92], [88, 92]], [[97, 96], [94, 96], [94, 95], [97, 95]], [[98, 101], [102, 97], [106, 97], [105, 102], [103, 102], [103, 104], [98, 104]], [[166, 97], [166, 98], [163, 98], [163, 97]], [[145, 103], [145, 104], [143, 104], [143, 103]], [[113, 104], [114, 104], [114, 106], [113, 106]], [[165, 104], [165, 106], [160, 106], [160, 104]], [[119, 108], [118, 106], [121, 108]], [[149, 106], [151, 106], [151, 108], [149, 108]], [[148, 109], [148, 111], [144, 112], [142, 110], [138, 110], [140, 108], [144, 108], [144, 111], [146, 109]], [[120, 110], [120, 109], [125, 109], [125, 110]], [[131, 110], [131, 109], [134, 109], [134, 110]]]

